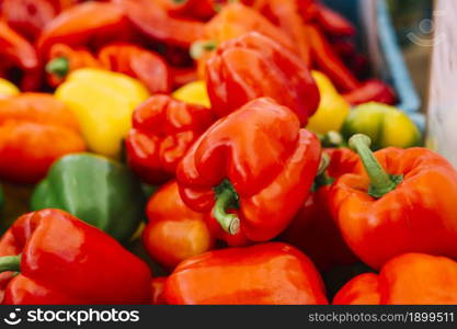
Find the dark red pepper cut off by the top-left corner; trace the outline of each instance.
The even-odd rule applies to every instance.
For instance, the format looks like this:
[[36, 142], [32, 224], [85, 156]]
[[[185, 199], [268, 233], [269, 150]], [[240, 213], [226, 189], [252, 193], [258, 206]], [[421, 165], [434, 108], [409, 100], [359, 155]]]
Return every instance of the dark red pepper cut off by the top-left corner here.
[[34, 41], [43, 27], [78, 0], [2, 0], [1, 18], [8, 25]]

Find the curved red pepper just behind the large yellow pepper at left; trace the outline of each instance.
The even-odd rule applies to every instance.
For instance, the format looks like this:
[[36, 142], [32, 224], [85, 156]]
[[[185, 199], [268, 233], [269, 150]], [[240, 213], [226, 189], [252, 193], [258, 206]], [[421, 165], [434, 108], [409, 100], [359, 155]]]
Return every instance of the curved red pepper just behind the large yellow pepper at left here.
[[116, 43], [101, 48], [98, 58], [105, 69], [141, 81], [152, 94], [171, 92], [170, 69], [162, 57], [151, 50], [133, 44]]

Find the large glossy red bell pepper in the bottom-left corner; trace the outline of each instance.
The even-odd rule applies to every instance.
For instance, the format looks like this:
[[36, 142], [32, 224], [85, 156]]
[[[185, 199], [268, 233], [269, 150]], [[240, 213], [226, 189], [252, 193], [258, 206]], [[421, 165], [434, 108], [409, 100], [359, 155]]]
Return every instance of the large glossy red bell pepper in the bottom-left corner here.
[[[151, 273], [140, 259], [93, 226], [57, 209], [20, 217], [0, 240], [2, 303], [142, 304]], [[18, 256], [21, 256], [18, 258]], [[119, 284], [122, 283], [122, 284]]]

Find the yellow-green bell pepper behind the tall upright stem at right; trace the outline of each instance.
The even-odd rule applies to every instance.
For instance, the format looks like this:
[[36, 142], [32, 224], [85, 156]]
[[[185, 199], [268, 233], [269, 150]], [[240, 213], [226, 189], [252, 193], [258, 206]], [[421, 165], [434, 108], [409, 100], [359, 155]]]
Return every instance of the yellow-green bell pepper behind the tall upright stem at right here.
[[354, 107], [341, 133], [346, 140], [355, 134], [367, 135], [375, 150], [389, 146], [409, 148], [419, 146], [422, 140], [421, 132], [405, 113], [375, 102]]

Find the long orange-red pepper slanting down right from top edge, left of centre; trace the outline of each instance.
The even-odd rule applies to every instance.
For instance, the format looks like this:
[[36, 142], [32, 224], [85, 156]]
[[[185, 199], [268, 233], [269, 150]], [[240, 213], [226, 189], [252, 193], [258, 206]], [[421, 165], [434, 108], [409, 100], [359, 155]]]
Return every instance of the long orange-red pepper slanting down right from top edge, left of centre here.
[[204, 23], [170, 15], [150, 0], [114, 0], [125, 9], [132, 23], [153, 41], [188, 48], [202, 35]]

